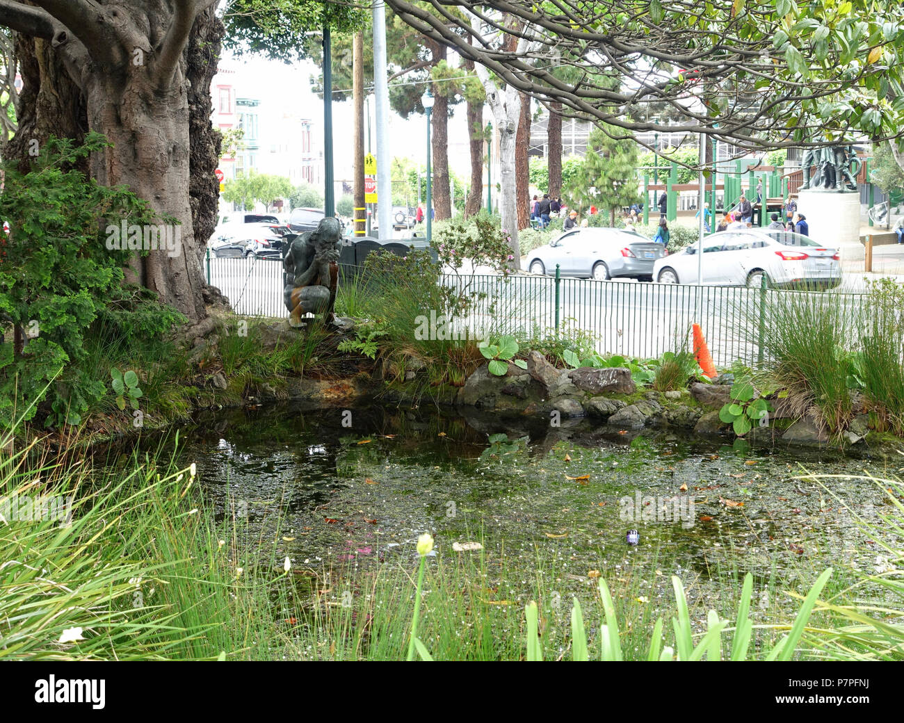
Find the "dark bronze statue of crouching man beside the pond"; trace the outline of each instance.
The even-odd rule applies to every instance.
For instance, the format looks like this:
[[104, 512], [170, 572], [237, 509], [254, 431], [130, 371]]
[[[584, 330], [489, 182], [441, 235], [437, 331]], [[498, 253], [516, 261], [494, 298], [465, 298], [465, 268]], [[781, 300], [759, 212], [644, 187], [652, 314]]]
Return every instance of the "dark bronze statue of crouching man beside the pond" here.
[[322, 313], [324, 324], [333, 321], [341, 239], [339, 220], [327, 216], [316, 230], [298, 236], [289, 246], [283, 266], [290, 326], [304, 326], [306, 314]]

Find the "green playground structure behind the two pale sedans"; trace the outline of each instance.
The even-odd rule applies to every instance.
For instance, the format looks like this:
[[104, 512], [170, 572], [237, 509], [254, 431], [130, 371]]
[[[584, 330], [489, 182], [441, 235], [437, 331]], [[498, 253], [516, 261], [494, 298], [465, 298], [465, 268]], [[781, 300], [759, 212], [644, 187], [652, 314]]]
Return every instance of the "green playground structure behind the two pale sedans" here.
[[[861, 163], [857, 183], [869, 184], [869, 206], [872, 207], [875, 205], [873, 187], [869, 183], [872, 159], [860, 157], [859, 160]], [[699, 183], [678, 183], [678, 164], [674, 161], [665, 161], [664, 165], [642, 166], [638, 171], [643, 174], [644, 223], [650, 222], [650, 209], [654, 209], [654, 215], [658, 216], [662, 192], [666, 193], [667, 198], [665, 211], [667, 221], [674, 221], [678, 217], [678, 202], [682, 192], [693, 192], [694, 200], [700, 192]], [[715, 164], [715, 172], [710, 174], [709, 181], [704, 182], [704, 202], [710, 204], [710, 211], [715, 218], [716, 214], [735, 209], [741, 193], [744, 193], [753, 204], [753, 225], [767, 226], [769, 214], [781, 213], [786, 195], [790, 194], [791, 198], [796, 200], [800, 186], [804, 182], [802, 169], [792, 168], [787, 173], [784, 171], [783, 167], [752, 163], [749, 158], [719, 161]], [[659, 179], [663, 176], [664, 182], [661, 183]], [[760, 181], [763, 183], [763, 199], [757, 202], [757, 185]], [[869, 216], [871, 226], [874, 225], [874, 215]]]

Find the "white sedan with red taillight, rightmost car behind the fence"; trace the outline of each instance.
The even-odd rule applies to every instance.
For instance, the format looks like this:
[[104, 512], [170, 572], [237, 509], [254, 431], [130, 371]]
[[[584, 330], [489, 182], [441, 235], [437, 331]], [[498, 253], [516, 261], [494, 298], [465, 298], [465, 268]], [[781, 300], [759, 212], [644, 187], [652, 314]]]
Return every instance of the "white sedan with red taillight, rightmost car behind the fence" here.
[[[659, 258], [653, 277], [661, 284], [696, 284], [699, 244]], [[702, 283], [758, 288], [834, 288], [842, 283], [838, 252], [808, 236], [780, 229], [739, 229], [703, 239]]]

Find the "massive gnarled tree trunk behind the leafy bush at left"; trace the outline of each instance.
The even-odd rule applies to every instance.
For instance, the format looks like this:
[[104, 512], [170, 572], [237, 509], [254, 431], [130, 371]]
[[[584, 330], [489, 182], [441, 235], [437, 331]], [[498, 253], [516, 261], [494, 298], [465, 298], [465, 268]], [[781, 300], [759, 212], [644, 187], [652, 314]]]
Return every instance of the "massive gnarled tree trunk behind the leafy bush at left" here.
[[210, 122], [210, 81], [223, 28], [209, 5], [72, 0], [54, 9], [59, 17], [0, 7], [0, 22], [21, 33], [24, 83], [6, 157], [27, 164], [33, 141], [40, 147], [51, 135], [80, 141], [89, 129], [107, 136], [113, 147], [84, 170], [98, 183], [128, 185], [158, 223], [171, 216], [178, 224], [176, 249], [136, 255], [127, 277], [192, 322], [206, 315], [200, 259], [217, 210], [220, 139]]

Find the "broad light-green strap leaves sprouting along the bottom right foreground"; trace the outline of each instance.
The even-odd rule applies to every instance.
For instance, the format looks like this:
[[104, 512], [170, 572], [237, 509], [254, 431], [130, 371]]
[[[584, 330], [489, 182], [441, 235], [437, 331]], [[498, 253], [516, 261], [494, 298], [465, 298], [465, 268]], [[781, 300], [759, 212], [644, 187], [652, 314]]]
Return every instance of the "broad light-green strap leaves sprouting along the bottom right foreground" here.
[[[761, 654], [766, 661], [789, 661], [794, 655], [797, 643], [804, 634], [807, 621], [816, 604], [825, 583], [832, 576], [832, 568], [824, 570], [810, 592], [801, 603], [800, 609], [789, 632], [775, 645]], [[674, 647], [663, 646], [663, 618], [657, 618], [653, 634], [650, 638], [650, 647], [647, 650], [648, 661], [700, 661], [706, 656], [709, 661], [722, 659], [722, 633], [733, 631], [729, 660], [749, 660], [750, 639], [753, 634], [753, 624], [750, 622], [750, 596], [753, 592], [753, 576], [748, 573], [744, 577], [744, 586], [738, 605], [738, 616], [733, 628], [729, 627], [730, 621], [720, 619], [715, 610], [707, 615], [707, 629], [696, 645], [692, 634], [691, 615], [688, 611], [687, 597], [684, 595], [684, 587], [678, 577], [672, 576], [672, 587], [675, 593], [676, 615], [672, 619], [674, 632]], [[604, 624], [599, 627], [599, 658], [604, 661], [622, 661], [624, 654], [621, 647], [621, 634], [618, 629], [618, 619], [615, 605], [606, 581], [599, 578], [599, 596], [603, 604]], [[525, 608], [527, 620], [527, 655], [529, 661], [541, 661], [543, 650], [538, 633], [538, 611], [535, 602], [529, 603]], [[786, 625], [776, 625], [776, 628], [786, 628]], [[584, 628], [584, 619], [581, 613], [578, 599], [575, 598], [571, 608], [571, 659], [574, 661], [589, 660], [589, 643]]]

